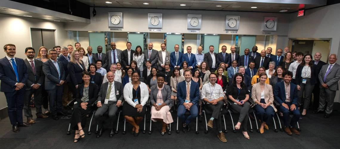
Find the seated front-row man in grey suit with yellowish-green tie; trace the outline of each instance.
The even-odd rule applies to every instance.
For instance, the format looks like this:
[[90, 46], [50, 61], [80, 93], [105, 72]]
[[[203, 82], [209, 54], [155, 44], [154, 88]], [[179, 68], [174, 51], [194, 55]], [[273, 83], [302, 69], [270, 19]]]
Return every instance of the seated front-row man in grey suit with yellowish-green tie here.
[[108, 117], [111, 122], [110, 137], [113, 137], [113, 135], [115, 134], [114, 122], [117, 119], [116, 113], [118, 111], [118, 108], [122, 106], [122, 101], [124, 100], [123, 85], [120, 82], [114, 81], [114, 73], [111, 71], [108, 72], [106, 74], [106, 78], [108, 82], [105, 82], [101, 85], [97, 99], [98, 109], [95, 113], [95, 118], [100, 128], [99, 133], [96, 136], [97, 138], [99, 138], [103, 134], [103, 114], [106, 111], [108, 111]]

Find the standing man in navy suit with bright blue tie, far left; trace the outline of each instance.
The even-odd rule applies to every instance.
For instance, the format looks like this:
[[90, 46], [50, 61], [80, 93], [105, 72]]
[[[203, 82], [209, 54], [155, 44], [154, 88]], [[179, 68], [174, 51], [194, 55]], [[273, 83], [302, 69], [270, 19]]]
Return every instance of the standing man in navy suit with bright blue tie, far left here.
[[4, 92], [7, 100], [8, 117], [13, 125], [13, 132], [19, 132], [18, 127], [31, 126], [22, 122], [25, 84], [28, 79], [27, 66], [23, 59], [14, 57], [14, 44], [6, 44], [3, 49], [6, 57], [0, 59], [0, 91]]

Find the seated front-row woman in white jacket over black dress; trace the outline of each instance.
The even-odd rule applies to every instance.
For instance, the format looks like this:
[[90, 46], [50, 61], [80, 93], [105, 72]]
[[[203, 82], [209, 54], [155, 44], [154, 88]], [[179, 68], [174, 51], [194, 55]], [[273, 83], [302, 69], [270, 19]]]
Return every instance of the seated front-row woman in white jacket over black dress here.
[[143, 120], [146, 112], [146, 106], [149, 99], [149, 89], [147, 85], [139, 81], [139, 73], [132, 73], [132, 81], [126, 83], [123, 91], [126, 103], [123, 105], [123, 113], [126, 121], [130, 123], [133, 128], [131, 134], [139, 135], [139, 123]]

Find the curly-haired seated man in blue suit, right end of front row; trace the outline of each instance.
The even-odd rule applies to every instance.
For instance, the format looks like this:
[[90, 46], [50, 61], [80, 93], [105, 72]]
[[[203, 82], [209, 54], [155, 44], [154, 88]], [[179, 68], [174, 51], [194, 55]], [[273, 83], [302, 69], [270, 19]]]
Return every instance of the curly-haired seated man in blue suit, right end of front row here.
[[[300, 118], [300, 111], [297, 108], [297, 88], [294, 83], [291, 83], [293, 73], [286, 71], [282, 74], [284, 81], [278, 82], [274, 88], [274, 99], [277, 101], [279, 106], [279, 111], [283, 113], [283, 121], [285, 124], [285, 132], [288, 135], [292, 133], [299, 135], [300, 132], [297, 131], [294, 126]], [[293, 113], [293, 117], [289, 124], [289, 113]]]

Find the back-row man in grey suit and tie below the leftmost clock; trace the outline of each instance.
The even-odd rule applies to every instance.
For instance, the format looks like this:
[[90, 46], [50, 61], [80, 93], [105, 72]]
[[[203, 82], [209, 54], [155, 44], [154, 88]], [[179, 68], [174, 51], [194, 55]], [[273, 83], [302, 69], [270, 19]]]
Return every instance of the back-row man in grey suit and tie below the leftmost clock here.
[[111, 42], [111, 50], [106, 52], [106, 59], [102, 67], [105, 68], [107, 72], [110, 71], [111, 64], [122, 62], [122, 50], [119, 50], [116, 47], [116, 43]]

